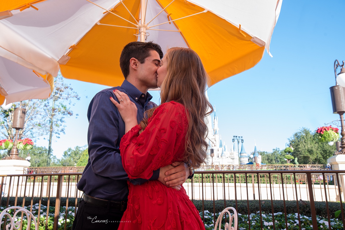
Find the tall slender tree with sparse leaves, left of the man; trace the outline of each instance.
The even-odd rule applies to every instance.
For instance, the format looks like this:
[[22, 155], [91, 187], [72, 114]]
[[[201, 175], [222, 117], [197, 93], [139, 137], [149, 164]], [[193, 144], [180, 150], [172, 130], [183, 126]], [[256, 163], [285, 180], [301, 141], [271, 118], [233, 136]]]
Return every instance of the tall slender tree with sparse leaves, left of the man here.
[[[40, 123], [49, 133], [49, 144], [48, 144], [48, 158], [47, 165], [50, 165], [50, 154], [51, 154], [51, 142], [53, 135], [60, 138], [60, 134], [65, 134], [65, 118], [73, 116], [73, 112], [69, 105], [72, 104], [72, 99], [80, 99], [78, 94], [71, 88], [70, 85], [63, 82], [61, 74], [54, 78], [54, 90], [51, 96], [44, 100], [45, 101], [45, 114], [48, 119], [45, 119]], [[74, 104], [72, 104], [74, 105]], [[76, 114], [78, 116], [78, 114]]]

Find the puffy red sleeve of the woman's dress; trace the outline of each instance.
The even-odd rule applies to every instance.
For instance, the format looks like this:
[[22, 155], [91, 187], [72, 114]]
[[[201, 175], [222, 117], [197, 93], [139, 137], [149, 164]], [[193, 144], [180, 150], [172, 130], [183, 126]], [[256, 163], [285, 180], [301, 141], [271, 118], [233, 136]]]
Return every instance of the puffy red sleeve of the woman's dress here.
[[130, 179], [149, 179], [152, 171], [183, 156], [188, 120], [185, 107], [177, 102], [160, 105], [139, 135], [140, 125], [120, 142], [122, 165]]

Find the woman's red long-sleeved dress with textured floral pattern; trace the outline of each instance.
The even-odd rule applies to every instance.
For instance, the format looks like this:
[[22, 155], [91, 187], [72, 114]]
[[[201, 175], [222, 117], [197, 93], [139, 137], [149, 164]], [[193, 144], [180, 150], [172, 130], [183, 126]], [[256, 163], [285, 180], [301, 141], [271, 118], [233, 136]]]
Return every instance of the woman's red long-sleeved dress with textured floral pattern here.
[[[152, 171], [170, 165], [184, 155], [188, 120], [177, 102], [160, 105], [139, 135], [140, 125], [126, 133], [120, 143], [122, 165], [130, 179], [149, 179]], [[186, 190], [168, 188], [159, 181], [142, 185], [128, 182], [127, 210], [119, 229], [205, 229]]]

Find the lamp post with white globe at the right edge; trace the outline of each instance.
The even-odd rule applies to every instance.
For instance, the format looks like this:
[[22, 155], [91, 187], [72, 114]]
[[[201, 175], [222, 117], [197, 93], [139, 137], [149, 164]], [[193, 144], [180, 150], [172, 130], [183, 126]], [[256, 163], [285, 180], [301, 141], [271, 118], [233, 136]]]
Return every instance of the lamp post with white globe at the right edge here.
[[[337, 74], [338, 67], [341, 67], [340, 72]], [[344, 125], [344, 117], [343, 114], [345, 113], [345, 67], [344, 61], [341, 65], [338, 60], [334, 61], [334, 75], [335, 75], [335, 86], [329, 88], [331, 91], [331, 99], [332, 99], [332, 107], [333, 113], [337, 113], [340, 115], [340, 123], [342, 127], [341, 131], [341, 145], [340, 151], [336, 154], [344, 154], [345, 152], [345, 125]]]

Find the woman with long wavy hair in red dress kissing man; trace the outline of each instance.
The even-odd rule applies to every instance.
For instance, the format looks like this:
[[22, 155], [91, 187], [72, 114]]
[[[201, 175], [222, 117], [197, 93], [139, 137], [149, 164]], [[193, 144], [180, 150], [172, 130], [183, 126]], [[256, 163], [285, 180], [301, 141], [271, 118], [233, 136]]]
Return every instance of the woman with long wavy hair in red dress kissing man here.
[[[152, 171], [174, 161], [198, 168], [205, 163], [207, 126], [204, 118], [212, 106], [205, 96], [207, 74], [191, 49], [171, 48], [157, 70], [161, 105], [147, 111], [137, 124], [137, 107], [125, 93], [115, 91], [126, 134], [120, 151], [130, 179], [152, 176]], [[121, 101], [123, 100], [123, 101]], [[205, 229], [199, 212], [185, 189], [178, 191], [159, 181], [128, 183], [127, 210], [119, 229]]]

